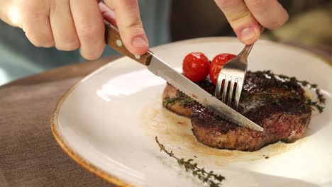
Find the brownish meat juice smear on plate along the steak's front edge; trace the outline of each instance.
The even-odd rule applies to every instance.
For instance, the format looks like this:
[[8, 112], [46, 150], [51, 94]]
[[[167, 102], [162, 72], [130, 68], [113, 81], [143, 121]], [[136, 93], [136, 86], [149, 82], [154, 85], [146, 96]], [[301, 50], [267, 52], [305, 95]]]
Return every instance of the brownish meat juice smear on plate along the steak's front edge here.
[[152, 141], [155, 141], [157, 136], [167, 150], [172, 150], [179, 157], [194, 158], [198, 164], [225, 166], [232, 162], [271, 159], [277, 154], [282, 154], [297, 147], [304, 140], [302, 138], [292, 144], [276, 142], [255, 152], [207, 147], [197, 142], [192, 133], [190, 119], [172, 113], [162, 107], [161, 98], [161, 96], [157, 96], [148, 106], [143, 108], [143, 112], [140, 114], [140, 127]]

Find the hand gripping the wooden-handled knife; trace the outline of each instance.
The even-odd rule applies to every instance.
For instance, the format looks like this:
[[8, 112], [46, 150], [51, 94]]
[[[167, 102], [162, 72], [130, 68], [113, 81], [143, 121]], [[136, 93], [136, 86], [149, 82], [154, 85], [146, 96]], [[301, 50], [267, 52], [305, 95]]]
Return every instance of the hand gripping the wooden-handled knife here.
[[[148, 51], [137, 0], [1, 0], [0, 18], [22, 28], [38, 47], [79, 48], [87, 60], [104, 50], [104, 18], [118, 26], [123, 44], [135, 55]], [[117, 24], [116, 24], [117, 23]]]

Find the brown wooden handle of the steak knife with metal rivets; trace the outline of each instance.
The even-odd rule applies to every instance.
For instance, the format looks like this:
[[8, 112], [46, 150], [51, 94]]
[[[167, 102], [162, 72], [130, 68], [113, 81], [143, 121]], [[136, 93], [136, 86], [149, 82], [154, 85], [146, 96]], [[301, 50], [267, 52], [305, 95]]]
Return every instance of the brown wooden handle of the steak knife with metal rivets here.
[[122, 55], [126, 55], [127, 57], [130, 57], [131, 59], [140, 62], [140, 64], [143, 64], [145, 66], [148, 66], [150, 64], [151, 60], [151, 52], [147, 52], [144, 55], [133, 55], [131, 52], [127, 50], [127, 48], [123, 45], [123, 42], [120, 37], [120, 33], [118, 33], [118, 29], [111, 25], [111, 23], [108, 23], [105, 21], [105, 41], [106, 45], [109, 45], [114, 50], [120, 52]]

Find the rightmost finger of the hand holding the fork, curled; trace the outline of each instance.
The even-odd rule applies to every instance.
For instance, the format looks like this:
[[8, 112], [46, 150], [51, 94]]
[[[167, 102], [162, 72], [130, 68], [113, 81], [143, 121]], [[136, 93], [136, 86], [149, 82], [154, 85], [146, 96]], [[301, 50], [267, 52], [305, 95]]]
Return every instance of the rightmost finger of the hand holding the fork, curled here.
[[277, 0], [245, 0], [256, 20], [265, 28], [279, 28], [288, 20], [288, 13]]

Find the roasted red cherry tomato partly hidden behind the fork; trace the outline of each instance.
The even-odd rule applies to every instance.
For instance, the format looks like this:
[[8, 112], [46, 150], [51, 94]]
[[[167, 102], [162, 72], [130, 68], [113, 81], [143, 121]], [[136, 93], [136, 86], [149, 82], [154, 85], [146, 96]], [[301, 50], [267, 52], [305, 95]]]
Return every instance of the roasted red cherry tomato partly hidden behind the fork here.
[[210, 79], [214, 84], [216, 84], [218, 80], [218, 75], [223, 65], [225, 65], [226, 62], [228, 62], [228, 60], [231, 60], [233, 57], [236, 57], [236, 55], [228, 53], [221, 53], [219, 55], [216, 55], [216, 57], [214, 57], [210, 67]]

